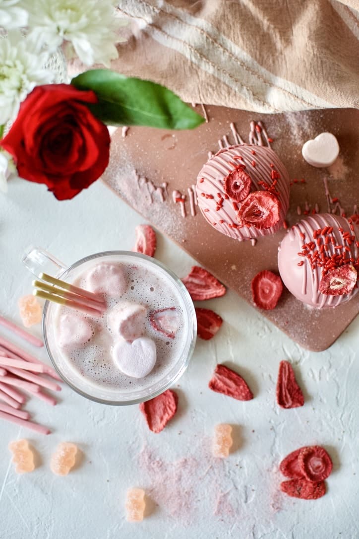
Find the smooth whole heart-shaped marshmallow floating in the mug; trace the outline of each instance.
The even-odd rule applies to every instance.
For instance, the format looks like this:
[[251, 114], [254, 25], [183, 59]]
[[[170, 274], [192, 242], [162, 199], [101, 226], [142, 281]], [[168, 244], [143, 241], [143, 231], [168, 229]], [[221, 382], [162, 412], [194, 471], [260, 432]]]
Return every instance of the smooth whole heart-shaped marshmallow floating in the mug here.
[[156, 363], [156, 344], [148, 337], [132, 341], [117, 341], [112, 348], [112, 358], [116, 367], [132, 378], [143, 378]]

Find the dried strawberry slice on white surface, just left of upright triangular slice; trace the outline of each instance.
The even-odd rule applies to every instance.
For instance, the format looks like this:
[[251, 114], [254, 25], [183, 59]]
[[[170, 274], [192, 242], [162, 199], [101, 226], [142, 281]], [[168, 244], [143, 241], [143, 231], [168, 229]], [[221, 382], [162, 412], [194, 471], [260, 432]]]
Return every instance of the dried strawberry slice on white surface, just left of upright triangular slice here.
[[253, 393], [242, 376], [224, 365], [216, 366], [208, 387], [212, 391], [223, 393], [223, 395], [237, 400], [251, 400], [253, 398]]

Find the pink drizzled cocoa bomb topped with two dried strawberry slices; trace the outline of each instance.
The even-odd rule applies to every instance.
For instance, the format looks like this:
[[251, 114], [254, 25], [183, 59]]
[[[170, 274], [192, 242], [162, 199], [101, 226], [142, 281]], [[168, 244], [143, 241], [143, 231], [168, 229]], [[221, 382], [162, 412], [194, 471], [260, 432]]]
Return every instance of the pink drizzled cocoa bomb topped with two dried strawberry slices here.
[[196, 183], [208, 223], [238, 241], [277, 232], [289, 205], [289, 177], [273, 150], [238, 144], [203, 165]]

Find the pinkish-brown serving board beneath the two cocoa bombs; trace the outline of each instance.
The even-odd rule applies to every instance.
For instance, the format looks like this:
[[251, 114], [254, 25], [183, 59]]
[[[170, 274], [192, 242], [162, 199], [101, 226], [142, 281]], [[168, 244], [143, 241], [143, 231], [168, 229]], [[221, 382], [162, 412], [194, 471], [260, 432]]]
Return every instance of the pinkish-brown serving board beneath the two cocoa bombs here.
[[[197, 108], [201, 112], [201, 108]], [[235, 142], [231, 122], [248, 142], [250, 121], [261, 120], [274, 141], [272, 149], [286, 165], [291, 179], [298, 179], [291, 187], [288, 225], [300, 219], [298, 206], [304, 211], [306, 202], [309, 211], [315, 203], [319, 211], [328, 211], [323, 178], [328, 179], [332, 198], [339, 198], [350, 216], [354, 205], [359, 203], [359, 110], [259, 115], [206, 106], [206, 111], [208, 123], [191, 131], [131, 127], [123, 136], [122, 129], [117, 129], [112, 135], [110, 163], [103, 181], [147, 222], [252, 303], [251, 279], [261, 269], [277, 271], [278, 244], [285, 230], [260, 238], [252, 246], [248, 241], [240, 243], [216, 232], [202, 217], [198, 206], [195, 206], [196, 215], [191, 215], [188, 188], [195, 184], [208, 151], [215, 153], [220, 139], [225, 145], [224, 135], [230, 144]], [[301, 147], [306, 140], [324, 131], [335, 134], [341, 151], [330, 169], [316, 169], [304, 161]], [[300, 182], [301, 178], [305, 183]], [[186, 196], [186, 217], [182, 215], [181, 204], [173, 202], [174, 190]], [[359, 294], [341, 307], [312, 310], [285, 291], [274, 310], [261, 312], [302, 347], [321, 351], [327, 349], [358, 314]]]

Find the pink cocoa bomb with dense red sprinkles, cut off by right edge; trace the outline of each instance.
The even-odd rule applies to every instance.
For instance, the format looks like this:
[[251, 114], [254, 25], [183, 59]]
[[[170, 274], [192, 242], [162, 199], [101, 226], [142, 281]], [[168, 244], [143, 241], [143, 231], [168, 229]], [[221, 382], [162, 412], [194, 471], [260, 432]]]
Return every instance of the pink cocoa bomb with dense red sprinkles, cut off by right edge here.
[[359, 226], [330, 213], [302, 219], [278, 251], [281, 280], [311, 307], [336, 307], [358, 292]]

